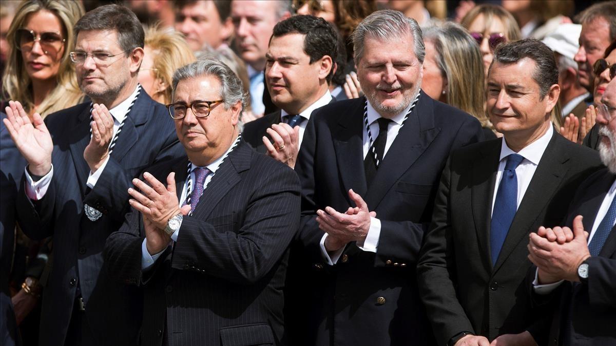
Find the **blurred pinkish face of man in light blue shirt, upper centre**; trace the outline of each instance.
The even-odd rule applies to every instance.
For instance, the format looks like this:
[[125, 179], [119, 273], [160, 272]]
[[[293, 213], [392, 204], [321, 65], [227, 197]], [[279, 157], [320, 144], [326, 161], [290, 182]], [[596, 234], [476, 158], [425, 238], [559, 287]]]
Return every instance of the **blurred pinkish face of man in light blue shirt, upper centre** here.
[[265, 53], [278, 21], [277, 6], [274, 1], [233, 1], [231, 4], [235, 44], [240, 57], [255, 70], [265, 67]]

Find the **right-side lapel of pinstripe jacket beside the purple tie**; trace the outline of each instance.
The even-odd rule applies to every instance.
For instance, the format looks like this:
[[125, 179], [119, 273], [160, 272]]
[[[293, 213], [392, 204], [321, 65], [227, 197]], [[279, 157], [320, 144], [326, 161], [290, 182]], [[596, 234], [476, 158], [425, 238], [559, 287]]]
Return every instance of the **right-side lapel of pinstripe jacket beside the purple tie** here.
[[239, 173], [249, 169], [252, 155], [252, 148], [243, 141], [229, 153], [229, 157], [218, 167], [218, 171], [203, 191], [203, 195], [201, 195], [193, 211], [193, 217], [200, 220], [208, 219], [209, 214], [221, 199], [229, 193], [233, 186], [240, 182]]

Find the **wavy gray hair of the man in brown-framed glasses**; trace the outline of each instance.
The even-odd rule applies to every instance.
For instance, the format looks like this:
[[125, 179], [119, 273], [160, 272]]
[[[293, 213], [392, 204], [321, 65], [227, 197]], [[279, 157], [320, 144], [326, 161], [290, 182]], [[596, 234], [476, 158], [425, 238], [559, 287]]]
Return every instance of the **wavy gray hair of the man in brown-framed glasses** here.
[[[248, 94], [237, 74], [229, 66], [217, 59], [197, 60], [196, 62], [178, 68], [173, 73], [173, 93], [175, 95], [177, 84], [184, 79], [193, 79], [200, 76], [214, 76], [221, 82], [221, 97], [224, 100], [225, 110], [229, 110], [238, 101], [242, 110], [248, 102]], [[241, 118], [241, 116], [240, 116]], [[240, 121], [240, 131], [243, 124]]]

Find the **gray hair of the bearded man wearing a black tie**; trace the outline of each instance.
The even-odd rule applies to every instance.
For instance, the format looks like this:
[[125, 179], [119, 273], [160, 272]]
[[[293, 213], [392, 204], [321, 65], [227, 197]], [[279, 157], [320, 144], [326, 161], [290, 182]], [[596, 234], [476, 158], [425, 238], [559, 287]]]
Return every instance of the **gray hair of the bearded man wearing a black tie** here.
[[355, 54], [355, 65], [363, 55], [363, 41], [366, 36], [391, 40], [392, 38], [403, 38], [411, 34], [415, 44], [415, 56], [420, 63], [423, 63], [426, 56], [421, 28], [413, 18], [405, 17], [402, 12], [395, 10], [378, 10], [363, 18], [351, 34], [353, 40], [353, 52]]

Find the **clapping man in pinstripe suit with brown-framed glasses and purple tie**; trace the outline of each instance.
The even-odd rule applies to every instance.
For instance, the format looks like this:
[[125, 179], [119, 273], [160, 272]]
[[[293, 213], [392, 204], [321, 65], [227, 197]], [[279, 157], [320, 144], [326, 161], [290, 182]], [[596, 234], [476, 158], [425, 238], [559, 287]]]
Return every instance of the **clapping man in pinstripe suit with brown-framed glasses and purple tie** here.
[[241, 139], [246, 95], [229, 67], [184, 66], [173, 89], [187, 156], [133, 180], [133, 210], [105, 246], [109, 273], [144, 288], [144, 345], [284, 344], [299, 179]]

